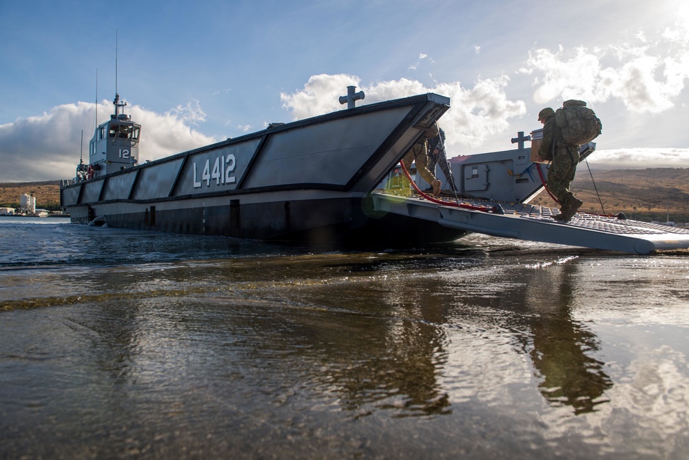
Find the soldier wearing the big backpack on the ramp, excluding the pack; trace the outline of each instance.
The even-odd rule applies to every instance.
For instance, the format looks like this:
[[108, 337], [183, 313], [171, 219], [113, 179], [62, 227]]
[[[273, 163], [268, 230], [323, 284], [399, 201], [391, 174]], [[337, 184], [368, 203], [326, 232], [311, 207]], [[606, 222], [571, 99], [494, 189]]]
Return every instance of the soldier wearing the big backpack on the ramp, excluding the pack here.
[[538, 149], [538, 156], [553, 161], [551, 168], [548, 169], [546, 187], [555, 196], [560, 206], [560, 213], [553, 216], [553, 219], [570, 221], [584, 204], [584, 201], [577, 199], [569, 190], [570, 183], [577, 172], [579, 146], [564, 143], [562, 134], [555, 124], [555, 110], [552, 108], [546, 107], [541, 110], [538, 121], [543, 123], [543, 140]]

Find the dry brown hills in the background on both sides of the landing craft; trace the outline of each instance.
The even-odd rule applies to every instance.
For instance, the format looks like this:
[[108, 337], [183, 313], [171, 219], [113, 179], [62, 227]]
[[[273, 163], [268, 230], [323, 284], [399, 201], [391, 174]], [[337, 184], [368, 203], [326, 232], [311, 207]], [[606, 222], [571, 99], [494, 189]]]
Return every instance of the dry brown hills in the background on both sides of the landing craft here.
[[[648, 168], [644, 170], [593, 170], [593, 179], [606, 213], [624, 212], [627, 217], [644, 221], [689, 219], [689, 168]], [[22, 193], [36, 197], [38, 208], [57, 209], [60, 203], [59, 181], [0, 183], [0, 206], [16, 208]], [[586, 163], [579, 165], [573, 192], [584, 200], [582, 211], [601, 213], [601, 204]], [[556, 208], [546, 192], [534, 204]]]

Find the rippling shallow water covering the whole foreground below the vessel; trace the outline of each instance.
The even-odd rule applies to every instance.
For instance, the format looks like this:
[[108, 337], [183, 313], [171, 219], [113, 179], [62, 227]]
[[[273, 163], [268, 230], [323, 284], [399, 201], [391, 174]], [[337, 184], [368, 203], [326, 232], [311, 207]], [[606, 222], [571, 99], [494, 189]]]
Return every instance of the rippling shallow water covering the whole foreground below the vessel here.
[[689, 452], [687, 257], [8, 219], [1, 458]]

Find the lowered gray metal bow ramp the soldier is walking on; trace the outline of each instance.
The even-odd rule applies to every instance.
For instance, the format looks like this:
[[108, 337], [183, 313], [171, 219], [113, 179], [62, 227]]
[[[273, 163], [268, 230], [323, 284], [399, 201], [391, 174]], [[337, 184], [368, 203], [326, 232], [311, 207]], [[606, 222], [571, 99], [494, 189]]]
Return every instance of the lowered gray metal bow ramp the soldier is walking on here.
[[372, 192], [376, 210], [434, 221], [442, 226], [494, 237], [648, 254], [689, 248], [689, 230], [654, 223], [578, 213], [569, 222], [553, 220], [557, 209], [522, 203], [454, 199], [429, 200]]

